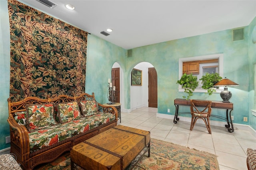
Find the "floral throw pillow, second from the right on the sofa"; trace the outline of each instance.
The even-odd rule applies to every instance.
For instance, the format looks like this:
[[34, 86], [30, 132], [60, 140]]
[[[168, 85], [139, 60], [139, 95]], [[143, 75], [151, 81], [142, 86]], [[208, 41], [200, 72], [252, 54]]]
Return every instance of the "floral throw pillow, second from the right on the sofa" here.
[[56, 105], [60, 123], [70, 122], [81, 117], [78, 102], [58, 103]]

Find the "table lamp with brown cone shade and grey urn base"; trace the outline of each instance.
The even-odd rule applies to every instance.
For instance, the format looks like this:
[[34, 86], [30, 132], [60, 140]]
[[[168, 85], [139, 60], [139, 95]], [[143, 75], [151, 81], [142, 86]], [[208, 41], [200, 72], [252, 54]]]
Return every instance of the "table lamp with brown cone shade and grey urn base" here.
[[237, 83], [231, 81], [230, 79], [227, 79], [227, 77], [225, 77], [225, 79], [222, 79], [221, 81], [219, 81], [218, 83], [216, 83], [213, 86], [224, 86], [224, 90], [220, 92], [220, 97], [223, 99], [222, 102], [230, 103], [229, 99], [232, 97], [232, 93], [231, 93], [231, 91], [228, 91], [227, 86], [239, 86], [239, 84], [237, 84]]

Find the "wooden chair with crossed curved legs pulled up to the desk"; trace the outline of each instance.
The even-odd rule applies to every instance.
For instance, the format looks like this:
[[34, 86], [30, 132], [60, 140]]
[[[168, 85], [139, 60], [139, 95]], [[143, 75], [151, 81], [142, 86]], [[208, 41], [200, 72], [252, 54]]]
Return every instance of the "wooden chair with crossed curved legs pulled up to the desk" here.
[[190, 111], [191, 111], [191, 125], [190, 130], [193, 130], [196, 121], [198, 119], [202, 119], [206, 125], [206, 128], [209, 134], [212, 134], [211, 127], [210, 127], [210, 116], [212, 112], [212, 101], [202, 101], [202, 100], [190, 100]]

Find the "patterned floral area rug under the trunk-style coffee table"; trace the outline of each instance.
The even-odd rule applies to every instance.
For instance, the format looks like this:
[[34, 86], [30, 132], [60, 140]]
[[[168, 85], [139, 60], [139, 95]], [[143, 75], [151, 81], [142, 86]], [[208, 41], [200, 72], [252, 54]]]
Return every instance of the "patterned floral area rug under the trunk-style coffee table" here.
[[[147, 155], [147, 153], [146, 153]], [[150, 158], [144, 156], [133, 170], [219, 170], [216, 155], [151, 138]], [[76, 167], [81, 170], [80, 167]], [[66, 152], [34, 170], [70, 170], [70, 153]]]

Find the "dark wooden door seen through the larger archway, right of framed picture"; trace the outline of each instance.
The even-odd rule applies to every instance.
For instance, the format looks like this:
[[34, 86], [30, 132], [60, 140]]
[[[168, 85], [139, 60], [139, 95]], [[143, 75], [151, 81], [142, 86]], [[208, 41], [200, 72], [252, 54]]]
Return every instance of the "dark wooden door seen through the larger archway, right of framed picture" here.
[[148, 68], [148, 107], [157, 107], [157, 73], [154, 67]]

